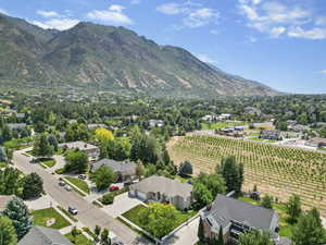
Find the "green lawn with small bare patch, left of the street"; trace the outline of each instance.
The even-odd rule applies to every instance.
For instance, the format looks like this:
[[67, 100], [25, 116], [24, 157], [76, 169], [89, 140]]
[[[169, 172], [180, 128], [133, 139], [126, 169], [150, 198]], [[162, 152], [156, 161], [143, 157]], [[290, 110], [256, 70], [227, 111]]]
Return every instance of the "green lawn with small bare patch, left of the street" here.
[[47, 226], [47, 220], [51, 218], [54, 218], [55, 222], [49, 228], [59, 230], [71, 225], [71, 223], [66, 219], [64, 219], [58, 211], [55, 211], [54, 208], [35, 210], [33, 211], [32, 216], [35, 225]]

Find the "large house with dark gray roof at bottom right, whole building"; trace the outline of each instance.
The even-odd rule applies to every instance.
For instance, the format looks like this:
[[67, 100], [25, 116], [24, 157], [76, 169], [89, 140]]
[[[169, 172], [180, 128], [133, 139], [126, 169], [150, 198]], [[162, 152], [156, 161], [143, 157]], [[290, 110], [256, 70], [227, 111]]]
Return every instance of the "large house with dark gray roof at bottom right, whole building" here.
[[269, 232], [271, 240], [280, 244], [278, 216], [273, 209], [218, 194], [212, 206], [201, 213], [201, 220], [204, 235], [209, 240], [218, 238], [220, 229], [225, 242], [235, 242], [240, 234], [259, 230]]

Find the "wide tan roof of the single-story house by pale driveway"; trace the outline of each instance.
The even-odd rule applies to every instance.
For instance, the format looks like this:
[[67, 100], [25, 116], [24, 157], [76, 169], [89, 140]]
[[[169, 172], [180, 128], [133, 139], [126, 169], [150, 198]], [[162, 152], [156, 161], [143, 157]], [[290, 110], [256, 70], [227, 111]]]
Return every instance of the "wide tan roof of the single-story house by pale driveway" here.
[[192, 185], [180, 183], [178, 180], [153, 175], [131, 185], [130, 189], [138, 189], [142, 193], [160, 192], [167, 196], [189, 197], [192, 192]]

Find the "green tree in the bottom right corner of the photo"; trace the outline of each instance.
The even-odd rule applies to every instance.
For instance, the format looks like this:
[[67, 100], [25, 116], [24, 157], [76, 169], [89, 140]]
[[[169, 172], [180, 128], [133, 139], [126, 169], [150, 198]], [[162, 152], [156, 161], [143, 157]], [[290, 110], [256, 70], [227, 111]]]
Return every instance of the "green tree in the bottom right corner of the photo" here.
[[315, 208], [299, 218], [292, 233], [296, 245], [322, 245], [326, 242], [321, 216]]

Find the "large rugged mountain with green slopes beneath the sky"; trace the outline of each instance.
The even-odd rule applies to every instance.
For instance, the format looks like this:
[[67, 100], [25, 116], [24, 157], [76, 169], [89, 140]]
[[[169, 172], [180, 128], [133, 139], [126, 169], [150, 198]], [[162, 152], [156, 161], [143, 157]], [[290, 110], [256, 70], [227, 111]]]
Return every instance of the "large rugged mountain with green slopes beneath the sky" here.
[[214, 69], [185, 49], [159, 46], [124, 27], [82, 22], [63, 32], [46, 30], [3, 14], [0, 85], [71, 85], [161, 96], [278, 94]]

